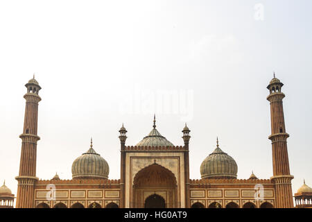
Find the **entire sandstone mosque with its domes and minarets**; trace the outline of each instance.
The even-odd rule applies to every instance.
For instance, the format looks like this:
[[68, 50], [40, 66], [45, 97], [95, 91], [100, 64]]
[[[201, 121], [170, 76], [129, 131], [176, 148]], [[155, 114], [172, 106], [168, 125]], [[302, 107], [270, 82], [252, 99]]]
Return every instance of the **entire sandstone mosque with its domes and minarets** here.
[[[219, 145], [200, 166], [201, 179], [189, 176], [189, 141], [191, 130], [182, 129], [183, 145], [176, 146], [153, 128], [135, 146], [126, 145], [127, 130], [121, 126], [120, 179], [110, 180], [110, 167], [96, 152], [91, 140], [89, 149], [74, 160], [71, 180], [56, 174], [51, 180], [36, 177], [37, 117], [40, 85], [32, 78], [27, 92], [24, 130], [21, 138], [16, 207], [17, 208], [104, 208], [104, 207], [197, 207], [197, 208], [288, 208], [294, 207], [288, 162], [287, 138], [281, 92], [283, 83], [272, 78], [268, 84], [270, 102], [273, 175], [259, 179], [254, 173], [238, 179], [235, 160]], [[0, 207], [12, 207], [15, 196], [3, 184]], [[295, 194], [296, 207], [312, 207], [312, 189], [304, 185]]]

